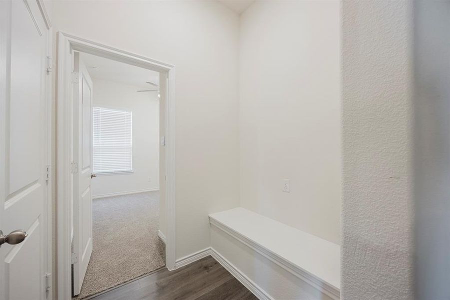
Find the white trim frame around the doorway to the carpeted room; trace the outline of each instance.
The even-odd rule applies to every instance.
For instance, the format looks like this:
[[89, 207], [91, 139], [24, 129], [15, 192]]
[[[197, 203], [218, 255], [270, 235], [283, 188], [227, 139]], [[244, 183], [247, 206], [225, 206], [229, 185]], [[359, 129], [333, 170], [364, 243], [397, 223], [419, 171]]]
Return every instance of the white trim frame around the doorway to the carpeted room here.
[[[57, 273], [60, 300], [71, 298], [70, 197], [72, 149], [71, 51], [77, 50], [167, 74], [165, 109], [166, 266], [175, 268], [175, 66], [94, 41], [58, 32], [57, 77]], [[163, 96], [163, 95], [162, 95]], [[118, 241], [120, 242], [120, 241]]]

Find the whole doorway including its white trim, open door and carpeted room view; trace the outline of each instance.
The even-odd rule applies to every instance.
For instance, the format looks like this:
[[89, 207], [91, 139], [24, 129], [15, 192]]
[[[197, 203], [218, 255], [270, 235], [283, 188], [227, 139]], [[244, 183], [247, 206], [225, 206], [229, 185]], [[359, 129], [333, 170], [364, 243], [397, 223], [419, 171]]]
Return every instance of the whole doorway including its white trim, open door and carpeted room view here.
[[174, 267], [174, 67], [58, 39], [58, 298], [85, 298]]

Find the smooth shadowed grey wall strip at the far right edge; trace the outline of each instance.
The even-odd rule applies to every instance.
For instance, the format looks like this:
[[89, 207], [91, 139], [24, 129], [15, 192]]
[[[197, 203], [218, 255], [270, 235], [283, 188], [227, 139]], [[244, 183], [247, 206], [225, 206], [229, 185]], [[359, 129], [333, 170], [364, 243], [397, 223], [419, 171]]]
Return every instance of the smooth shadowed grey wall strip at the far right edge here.
[[415, 2], [417, 299], [450, 295], [450, 2]]

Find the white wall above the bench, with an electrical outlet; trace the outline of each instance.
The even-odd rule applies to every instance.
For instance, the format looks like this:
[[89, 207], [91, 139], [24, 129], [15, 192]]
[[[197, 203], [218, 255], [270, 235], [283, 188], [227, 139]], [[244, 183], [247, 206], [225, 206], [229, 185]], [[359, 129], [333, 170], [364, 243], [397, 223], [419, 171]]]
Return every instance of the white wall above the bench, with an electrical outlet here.
[[241, 205], [339, 243], [340, 2], [257, 1], [240, 30]]

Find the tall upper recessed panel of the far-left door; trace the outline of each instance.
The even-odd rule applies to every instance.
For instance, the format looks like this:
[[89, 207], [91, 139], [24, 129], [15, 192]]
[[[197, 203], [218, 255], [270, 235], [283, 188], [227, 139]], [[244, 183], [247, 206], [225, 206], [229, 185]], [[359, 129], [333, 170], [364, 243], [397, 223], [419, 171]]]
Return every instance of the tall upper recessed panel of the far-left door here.
[[[26, 188], [39, 178], [39, 148], [42, 135], [42, 58], [45, 43], [42, 31], [22, 1], [12, 2], [11, 72], [9, 120], [9, 192]], [[26, 85], [25, 85], [26, 84]]]

